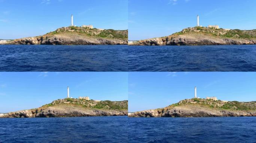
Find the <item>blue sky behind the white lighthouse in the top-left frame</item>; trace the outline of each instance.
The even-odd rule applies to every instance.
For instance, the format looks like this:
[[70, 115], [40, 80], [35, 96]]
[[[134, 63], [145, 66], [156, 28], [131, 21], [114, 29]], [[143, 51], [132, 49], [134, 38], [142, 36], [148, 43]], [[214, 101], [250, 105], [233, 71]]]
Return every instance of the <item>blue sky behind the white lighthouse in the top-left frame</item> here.
[[127, 0], [0, 0], [0, 39], [38, 36], [69, 26], [128, 29]]

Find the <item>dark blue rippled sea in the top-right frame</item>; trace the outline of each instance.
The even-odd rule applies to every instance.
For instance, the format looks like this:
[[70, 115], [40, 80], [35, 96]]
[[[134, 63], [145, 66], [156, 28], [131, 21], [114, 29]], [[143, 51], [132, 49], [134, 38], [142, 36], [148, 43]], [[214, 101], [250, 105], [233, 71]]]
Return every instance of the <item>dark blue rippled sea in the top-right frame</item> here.
[[129, 71], [256, 71], [256, 45], [129, 46]]

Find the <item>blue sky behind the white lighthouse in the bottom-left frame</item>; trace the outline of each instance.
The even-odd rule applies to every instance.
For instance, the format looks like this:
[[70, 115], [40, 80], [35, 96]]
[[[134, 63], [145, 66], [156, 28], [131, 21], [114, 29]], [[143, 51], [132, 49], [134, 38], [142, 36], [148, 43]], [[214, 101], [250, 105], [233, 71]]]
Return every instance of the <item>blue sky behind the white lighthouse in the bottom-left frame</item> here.
[[0, 72], [0, 113], [31, 109], [70, 96], [128, 99], [127, 72]]

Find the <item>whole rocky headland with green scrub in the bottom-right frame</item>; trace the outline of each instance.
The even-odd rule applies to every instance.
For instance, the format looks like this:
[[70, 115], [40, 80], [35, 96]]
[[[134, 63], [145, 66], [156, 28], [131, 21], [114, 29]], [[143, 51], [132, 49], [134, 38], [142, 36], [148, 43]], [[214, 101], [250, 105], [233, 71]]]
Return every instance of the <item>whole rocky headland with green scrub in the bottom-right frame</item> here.
[[129, 114], [129, 117], [238, 117], [256, 116], [256, 101], [223, 102], [211, 99], [185, 99], [165, 108]]

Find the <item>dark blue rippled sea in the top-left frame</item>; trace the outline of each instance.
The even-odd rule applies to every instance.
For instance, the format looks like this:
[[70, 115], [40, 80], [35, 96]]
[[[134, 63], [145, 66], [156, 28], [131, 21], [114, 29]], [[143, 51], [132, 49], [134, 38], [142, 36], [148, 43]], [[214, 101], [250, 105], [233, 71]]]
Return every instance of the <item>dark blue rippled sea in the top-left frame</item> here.
[[0, 71], [127, 71], [127, 45], [0, 45]]

